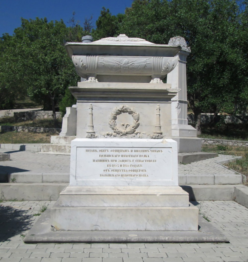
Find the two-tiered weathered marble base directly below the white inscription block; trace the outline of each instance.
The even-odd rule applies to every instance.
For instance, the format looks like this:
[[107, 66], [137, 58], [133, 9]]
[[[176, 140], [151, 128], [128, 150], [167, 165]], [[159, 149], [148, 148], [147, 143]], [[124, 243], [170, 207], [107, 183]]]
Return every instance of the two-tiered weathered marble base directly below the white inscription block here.
[[179, 186], [68, 186], [51, 210], [66, 231], [197, 231], [198, 208]]

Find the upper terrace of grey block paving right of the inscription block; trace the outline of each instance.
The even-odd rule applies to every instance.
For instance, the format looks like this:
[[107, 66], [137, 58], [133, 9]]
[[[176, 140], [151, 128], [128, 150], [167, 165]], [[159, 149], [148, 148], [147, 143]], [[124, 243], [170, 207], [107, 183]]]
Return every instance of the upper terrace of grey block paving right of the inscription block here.
[[224, 175], [224, 174], [235, 174], [234, 171], [225, 168], [223, 165], [220, 165], [219, 161], [232, 159], [233, 156], [229, 155], [219, 155], [218, 157], [201, 160], [197, 162], [193, 162], [187, 165], [178, 165], [178, 173], [183, 175]]

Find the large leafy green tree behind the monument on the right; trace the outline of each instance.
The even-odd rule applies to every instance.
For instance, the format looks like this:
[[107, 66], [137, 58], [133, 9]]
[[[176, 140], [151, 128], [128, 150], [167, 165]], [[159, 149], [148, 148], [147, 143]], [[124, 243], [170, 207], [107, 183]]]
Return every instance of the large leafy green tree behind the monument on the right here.
[[134, 0], [117, 31], [160, 44], [177, 35], [185, 38], [192, 51], [188, 100], [199, 133], [201, 112], [233, 112], [241, 100], [243, 108], [247, 105], [246, 1]]

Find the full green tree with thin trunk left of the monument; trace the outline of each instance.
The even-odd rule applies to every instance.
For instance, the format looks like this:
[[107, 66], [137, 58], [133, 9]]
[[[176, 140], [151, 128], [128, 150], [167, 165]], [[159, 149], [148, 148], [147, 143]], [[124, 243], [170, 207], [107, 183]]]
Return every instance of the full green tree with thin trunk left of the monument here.
[[71, 28], [63, 21], [21, 19], [21, 27], [14, 30], [16, 56], [20, 65], [17, 77], [25, 85], [32, 100], [42, 102], [44, 109], [53, 111], [70, 85], [76, 85], [77, 75], [64, 43]]

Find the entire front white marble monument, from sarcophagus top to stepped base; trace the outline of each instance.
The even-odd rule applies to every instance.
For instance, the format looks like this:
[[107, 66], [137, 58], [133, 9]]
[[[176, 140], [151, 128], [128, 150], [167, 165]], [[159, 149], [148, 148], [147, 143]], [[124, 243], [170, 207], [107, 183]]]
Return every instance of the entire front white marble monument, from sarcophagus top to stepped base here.
[[181, 46], [120, 35], [66, 48], [86, 81], [70, 87], [77, 132], [70, 184], [52, 210], [52, 227], [197, 231], [198, 208], [178, 185], [171, 139], [171, 99], [179, 89], [161, 80], [177, 66]]

